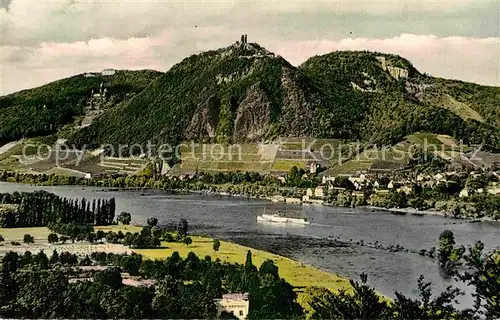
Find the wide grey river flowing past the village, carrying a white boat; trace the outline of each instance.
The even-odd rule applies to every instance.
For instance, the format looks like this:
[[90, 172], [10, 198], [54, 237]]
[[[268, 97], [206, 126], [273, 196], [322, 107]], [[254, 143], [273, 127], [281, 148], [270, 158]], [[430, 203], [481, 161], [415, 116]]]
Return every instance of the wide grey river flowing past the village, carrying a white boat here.
[[[104, 191], [79, 186], [38, 187], [0, 183], [0, 192], [46, 190], [69, 198], [116, 198], [117, 213], [127, 211], [132, 221], [144, 223], [155, 216], [160, 223], [188, 220], [191, 231], [290, 256], [296, 260], [333, 273], [359, 279], [368, 274], [368, 283], [386, 296], [398, 290], [416, 294], [417, 279], [422, 274], [437, 291], [454, 284], [440, 275], [437, 262], [415, 253], [389, 252], [355, 244], [339, 245], [332, 238], [364, 240], [406, 248], [436, 246], [440, 233], [449, 229], [458, 244], [465, 246], [481, 240], [487, 248], [500, 244], [497, 222], [460, 222], [440, 216], [394, 215], [366, 209], [316, 205], [272, 204], [260, 200], [198, 194], [167, 194], [159, 191]], [[276, 226], [257, 223], [256, 217], [266, 208], [295, 210], [311, 220], [307, 226]], [[456, 223], [456, 224], [453, 224]], [[328, 240], [328, 238], [330, 240]], [[243, 263], [243, 261], [242, 261]], [[467, 289], [467, 288], [463, 288]], [[472, 298], [463, 297], [463, 305]]]

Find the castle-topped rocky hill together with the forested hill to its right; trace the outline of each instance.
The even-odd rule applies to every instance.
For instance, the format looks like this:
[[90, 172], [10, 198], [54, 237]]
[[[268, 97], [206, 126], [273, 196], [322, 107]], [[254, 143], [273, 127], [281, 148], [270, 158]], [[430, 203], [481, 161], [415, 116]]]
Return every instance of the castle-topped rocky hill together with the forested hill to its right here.
[[[474, 141], [491, 136], [494, 128], [480, 109], [494, 114], [488, 106], [496, 102], [487, 100], [477, 109], [478, 104], [470, 105], [486, 119], [478, 124], [463, 116], [469, 97], [456, 98], [461, 104], [448, 108], [435, 102], [442, 101], [445, 89], [452, 97], [462, 92], [462, 84], [443, 83], [395, 55], [333, 52], [295, 68], [258, 44], [238, 42], [184, 59], [70, 143], [236, 143], [313, 136], [386, 144], [418, 131], [457, 139], [473, 132]], [[491, 101], [497, 94], [472, 89], [478, 102], [483, 92]], [[486, 143], [500, 141], [490, 140]]]

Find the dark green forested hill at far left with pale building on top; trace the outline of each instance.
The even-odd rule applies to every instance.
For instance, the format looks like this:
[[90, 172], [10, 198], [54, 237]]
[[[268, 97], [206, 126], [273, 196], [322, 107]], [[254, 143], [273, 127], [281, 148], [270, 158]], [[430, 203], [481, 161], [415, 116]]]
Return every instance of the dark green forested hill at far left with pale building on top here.
[[84, 114], [92, 91], [101, 84], [108, 103], [118, 104], [141, 92], [160, 72], [116, 71], [113, 75], [84, 74], [51, 82], [41, 87], [0, 97], [0, 144], [23, 137], [55, 133], [76, 116]]

